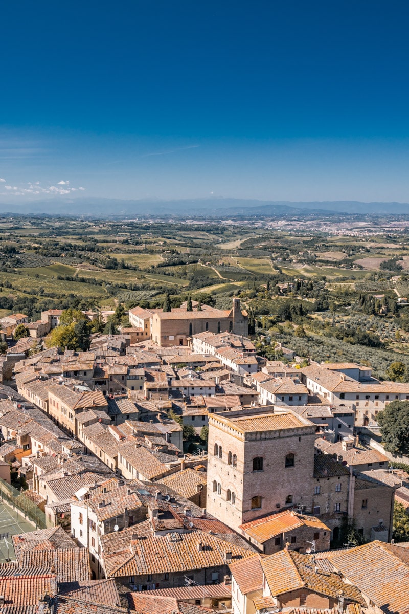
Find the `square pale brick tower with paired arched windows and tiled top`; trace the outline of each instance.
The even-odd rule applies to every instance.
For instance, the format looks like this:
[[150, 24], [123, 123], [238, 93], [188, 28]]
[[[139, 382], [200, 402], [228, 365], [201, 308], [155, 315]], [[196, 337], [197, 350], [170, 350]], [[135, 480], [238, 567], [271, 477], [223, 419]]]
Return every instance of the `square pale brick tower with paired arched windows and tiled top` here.
[[251, 408], [208, 421], [207, 509], [233, 529], [296, 505], [312, 511], [315, 424]]

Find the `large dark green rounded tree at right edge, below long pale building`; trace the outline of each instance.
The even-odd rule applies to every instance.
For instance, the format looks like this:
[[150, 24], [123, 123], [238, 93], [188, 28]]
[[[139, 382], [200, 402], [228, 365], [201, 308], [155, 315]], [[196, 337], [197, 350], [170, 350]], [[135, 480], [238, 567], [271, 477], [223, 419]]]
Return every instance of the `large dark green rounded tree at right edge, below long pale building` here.
[[378, 414], [382, 442], [391, 454], [409, 453], [409, 401], [392, 401]]

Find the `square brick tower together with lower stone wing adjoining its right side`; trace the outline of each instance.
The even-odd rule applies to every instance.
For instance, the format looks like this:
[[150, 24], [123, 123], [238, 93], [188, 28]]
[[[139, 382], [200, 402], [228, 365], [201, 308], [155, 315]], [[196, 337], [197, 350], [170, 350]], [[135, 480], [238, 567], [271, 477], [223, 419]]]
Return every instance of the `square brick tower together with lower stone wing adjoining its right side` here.
[[245, 534], [241, 525], [295, 508], [324, 521], [335, 542], [348, 523], [366, 540], [391, 539], [388, 472], [320, 454], [306, 418], [269, 405], [210, 414], [208, 427], [207, 510], [233, 529]]

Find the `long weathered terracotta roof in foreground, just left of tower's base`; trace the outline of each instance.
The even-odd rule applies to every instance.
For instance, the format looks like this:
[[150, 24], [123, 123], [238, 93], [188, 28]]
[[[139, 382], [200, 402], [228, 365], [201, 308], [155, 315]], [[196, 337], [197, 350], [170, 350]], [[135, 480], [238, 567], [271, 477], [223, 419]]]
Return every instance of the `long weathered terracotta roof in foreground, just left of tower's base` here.
[[126, 550], [105, 556], [105, 566], [108, 576], [117, 578], [146, 573], [186, 572], [226, 565], [226, 552], [232, 553], [232, 561], [251, 553], [247, 548], [239, 548], [208, 533], [169, 533], [132, 541]]

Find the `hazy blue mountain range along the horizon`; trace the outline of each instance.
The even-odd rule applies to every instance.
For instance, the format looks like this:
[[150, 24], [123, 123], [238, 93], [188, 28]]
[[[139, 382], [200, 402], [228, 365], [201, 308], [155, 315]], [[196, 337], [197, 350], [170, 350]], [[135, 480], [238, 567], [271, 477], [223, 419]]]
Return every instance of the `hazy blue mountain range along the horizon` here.
[[53, 198], [0, 203], [0, 213], [91, 217], [192, 216], [192, 217], [281, 217], [315, 219], [334, 216], [408, 216], [408, 203], [362, 203], [359, 201], [263, 201], [242, 198], [196, 198], [186, 200], [120, 200], [116, 198]]

